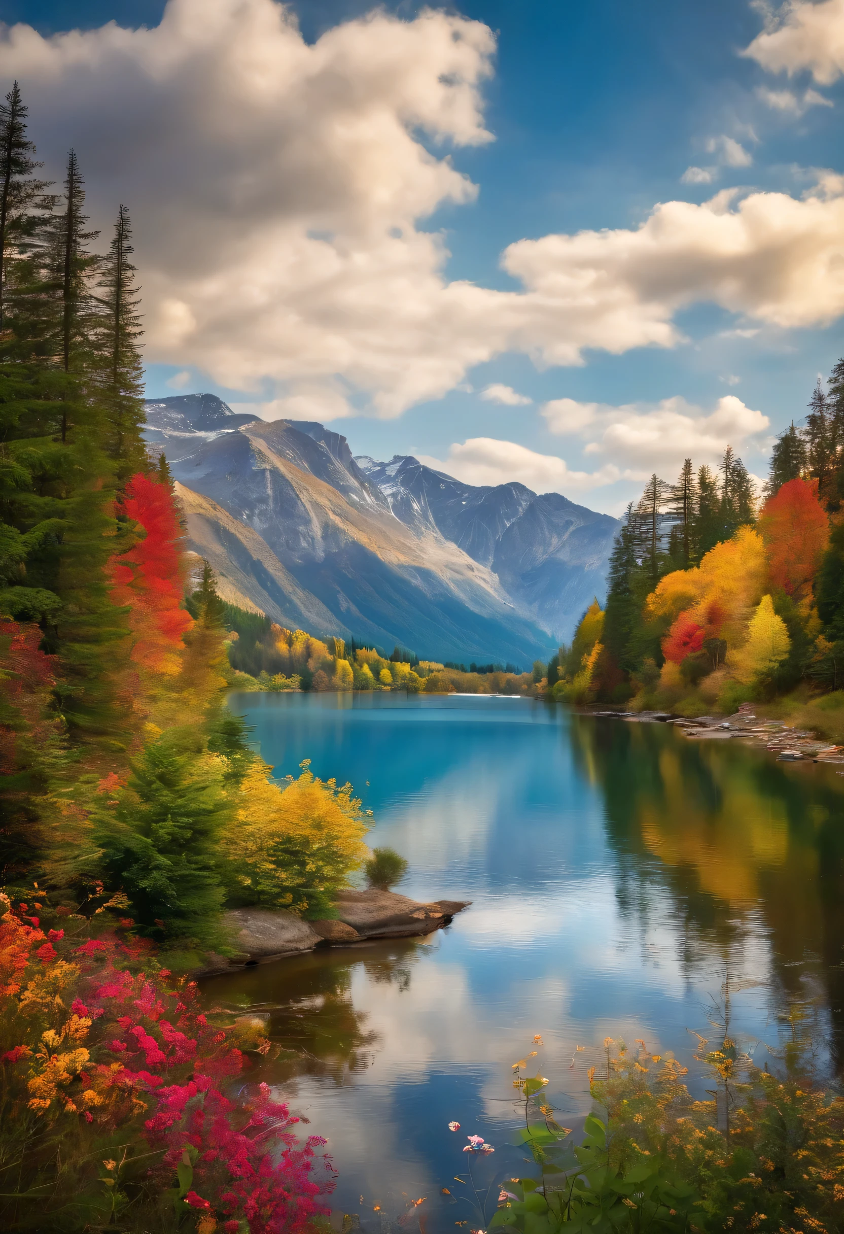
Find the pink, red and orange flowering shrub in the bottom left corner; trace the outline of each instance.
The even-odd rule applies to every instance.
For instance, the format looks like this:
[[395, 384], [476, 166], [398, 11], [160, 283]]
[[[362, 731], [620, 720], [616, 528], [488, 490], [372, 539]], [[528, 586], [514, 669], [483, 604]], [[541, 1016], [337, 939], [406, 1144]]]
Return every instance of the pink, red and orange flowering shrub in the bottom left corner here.
[[97, 938], [41, 900], [0, 907], [4, 1228], [299, 1234], [326, 1212], [325, 1141], [300, 1144], [264, 1085], [223, 1092], [269, 1041], [202, 1014], [131, 922]]

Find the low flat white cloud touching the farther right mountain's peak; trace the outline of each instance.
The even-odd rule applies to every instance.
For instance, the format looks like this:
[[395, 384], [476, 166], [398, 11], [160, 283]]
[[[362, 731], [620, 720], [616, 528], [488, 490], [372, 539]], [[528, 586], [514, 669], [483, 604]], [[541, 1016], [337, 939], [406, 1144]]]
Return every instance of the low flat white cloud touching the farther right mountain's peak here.
[[571, 471], [564, 459], [555, 454], [538, 454], [516, 442], [502, 442], [494, 437], [470, 437], [449, 447], [443, 460], [431, 455], [417, 455], [436, 471], [463, 480], [464, 484], [511, 484], [518, 481], [534, 492], [571, 492], [595, 489], [618, 480], [621, 471], [611, 465], [597, 471]]

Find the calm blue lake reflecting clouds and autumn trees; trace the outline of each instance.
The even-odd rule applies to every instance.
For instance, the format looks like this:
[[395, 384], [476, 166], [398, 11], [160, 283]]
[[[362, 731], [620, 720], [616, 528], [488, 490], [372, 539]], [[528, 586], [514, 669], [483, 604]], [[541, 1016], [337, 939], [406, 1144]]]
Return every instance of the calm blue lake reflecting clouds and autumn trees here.
[[842, 1069], [834, 766], [526, 698], [248, 694], [231, 706], [275, 775], [311, 759], [352, 781], [375, 814], [369, 843], [410, 861], [396, 890], [473, 901], [421, 940], [205, 983], [211, 1000], [263, 1004], [284, 1049], [254, 1075], [327, 1137], [334, 1204], [365, 1227], [408, 1209], [428, 1234], [482, 1224], [461, 1148], [478, 1133], [496, 1149], [478, 1162], [481, 1198], [527, 1169], [511, 1065], [534, 1034], [575, 1129], [607, 1037], [674, 1051], [703, 1096], [690, 1030], [717, 1037], [726, 992], [732, 1033], [760, 1064], [797, 1004], [819, 1065]]

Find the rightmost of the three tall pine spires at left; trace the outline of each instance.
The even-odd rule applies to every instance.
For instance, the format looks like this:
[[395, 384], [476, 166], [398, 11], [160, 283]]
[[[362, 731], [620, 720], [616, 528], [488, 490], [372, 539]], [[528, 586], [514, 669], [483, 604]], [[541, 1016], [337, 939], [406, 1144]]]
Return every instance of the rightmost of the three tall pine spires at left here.
[[[100, 279], [100, 362], [109, 421], [107, 449], [125, 480], [146, 466], [141, 439], [143, 423], [143, 369], [138, 350], [141, 338], [139, 297], [134, 288], [132, 225], [121, 206], [109, 255]], [[165, 464], [167, 465], [167, 464]]]

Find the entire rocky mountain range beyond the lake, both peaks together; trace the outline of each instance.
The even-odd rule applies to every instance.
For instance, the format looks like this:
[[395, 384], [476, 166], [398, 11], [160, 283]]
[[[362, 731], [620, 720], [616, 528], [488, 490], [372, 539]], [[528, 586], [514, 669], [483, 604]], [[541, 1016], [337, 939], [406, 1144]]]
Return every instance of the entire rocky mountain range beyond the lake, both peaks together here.
[[281, 624], [527, 666], [603, 594], [617, 522], [558, 494], [355, 460], [320, 423], [255, 421], [213, 395], [147, 404], [147, 438], [223, 595]]

